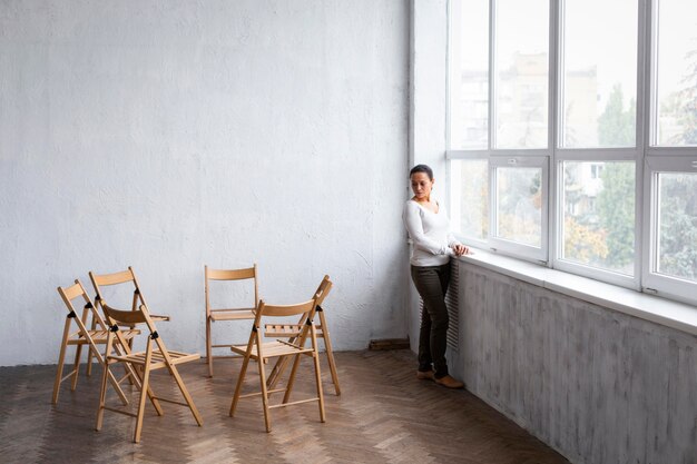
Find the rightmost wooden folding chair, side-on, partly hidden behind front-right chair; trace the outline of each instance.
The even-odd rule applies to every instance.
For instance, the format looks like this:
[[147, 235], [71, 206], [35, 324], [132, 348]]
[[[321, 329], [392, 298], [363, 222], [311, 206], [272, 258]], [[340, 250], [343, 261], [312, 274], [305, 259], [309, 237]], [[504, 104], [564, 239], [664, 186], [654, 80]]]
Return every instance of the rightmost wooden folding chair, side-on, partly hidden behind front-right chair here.
[[[330, 372], [332, 374], [332, 383], [334, 384], [334, 391], [336, 392], [336, 396], [341, 395], [341, 387], [338, 385], [338, 374], [336, 373], [336, 362], [334, 361], [334, 352], [332, 349], [332, 339], [330, 338], [330, 326], [326, 324], [326, 318], [324, 316], [324, 308], [322, 304], [324, 303], [324, 298], [326, 298], [327, 294], [332, 289], [332, 280], [330, 280], [330, 276], [324, 276], [320, 286], [315, 290], [315, 299], [317, 300], [316, 314], [320, 317], [320, 324], [315, 324], [315, 330], [317, 333], [317, 338], [324, 339], [324, 349], [326, 353], [327, 363], [330, 365]], [[316, 320], [316, 318], [315, 318]], [[295, 343], [300, 337], [303, 327], [306, 323], [306, 317], [303, 316], [297, 324], [279, 324], [279, 325], [266, 325], [266, 334], [268, 336], [274, 337], [288, 337], [288, 342]], [[283, 376], [284, 371], [288, 365], [289, 358], [282, 357], [278, 358], [276, 365], [272, 369], [268, 375], [268, 387], [274, 388], [278, 383], [281, 376]]]

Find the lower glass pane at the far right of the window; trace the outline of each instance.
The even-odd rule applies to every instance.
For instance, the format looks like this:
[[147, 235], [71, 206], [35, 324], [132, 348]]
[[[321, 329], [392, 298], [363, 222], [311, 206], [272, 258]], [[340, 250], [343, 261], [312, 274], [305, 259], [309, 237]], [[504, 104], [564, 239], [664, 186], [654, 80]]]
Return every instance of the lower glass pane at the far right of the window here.
[[658, 175], [659, 274], [697, 282], [697, 174]]

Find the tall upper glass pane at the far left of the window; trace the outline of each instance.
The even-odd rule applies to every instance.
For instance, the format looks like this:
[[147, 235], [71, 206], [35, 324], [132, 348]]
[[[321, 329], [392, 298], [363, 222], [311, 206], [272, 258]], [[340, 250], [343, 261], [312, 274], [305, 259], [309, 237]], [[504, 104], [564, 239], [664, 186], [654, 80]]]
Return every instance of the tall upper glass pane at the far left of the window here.
[[489, 140], [489, 0], [453, 0], [450, 40], [450, 147]]

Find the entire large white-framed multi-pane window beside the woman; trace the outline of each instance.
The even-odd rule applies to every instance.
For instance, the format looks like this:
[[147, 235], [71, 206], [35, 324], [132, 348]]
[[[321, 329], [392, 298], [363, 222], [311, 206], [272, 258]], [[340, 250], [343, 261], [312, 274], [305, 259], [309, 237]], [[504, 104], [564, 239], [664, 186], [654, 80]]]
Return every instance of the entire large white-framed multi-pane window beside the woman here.
[[449, 11], [462, 239], [697, 304], [697, 2], [450, 0]]

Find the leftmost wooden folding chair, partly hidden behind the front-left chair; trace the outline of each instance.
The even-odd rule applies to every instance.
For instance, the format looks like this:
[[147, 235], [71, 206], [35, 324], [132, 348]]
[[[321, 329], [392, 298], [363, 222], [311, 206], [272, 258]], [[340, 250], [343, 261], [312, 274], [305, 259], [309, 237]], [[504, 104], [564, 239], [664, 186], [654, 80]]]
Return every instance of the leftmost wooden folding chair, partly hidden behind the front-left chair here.
[[[104, 358], [97, 348], [97, 345], [106, 345], [107, 343], [107, 325], [105, 320], [97, 312], [97, 308], [89, 299], [85, 287], [80, 283], [80, 280], [76, 279], [75, 284], [70, 287], [58, 287], [58, 294], [62, 298], [66, 304], [66, 308], [68, 309], [68, 315], [66, 317], [66, 324], [63, 327], [63, 336], [60, 344], [60, 354], [58, 356], [58, 369], [56, 372], [56, 382], [53, 383], [53, 396], [51, 399], [52, 404], [58, 403], [58, 394], [60, 392], [60, 384], [63, 381], [72, 377], [72, 385], [70, 389], [75, 392], [78, 385], [78, 375], [80, 372], [80, 355], [82, 353], [82, 346], [88, 345], [88, 357], [87, 357], [87, 375], [91, 375], [92, 362], [91, 358], [95, 356], [97, 362], [104, 366]], [[78, 316], [78, 312], [76, 312], [75, 306], [72, 305], [72, 300], [76, 298], [82, 297], [82, 302], [79, 304], [84, 304], [82, 315]], [[91, 316], [91, 322], [89, 320]], [[77, 330], [73, 332], [72, 324], [77, 325]], [[91, 327], [91, 328], [88, 328]], [[132, 338], [137, 335], [139, 330], [124, 330], [122, 337], [125, 340]], [[66, 361], [66, 351], [68, 346], [75, 345], [75, 366], [72, 371], [62, 377], [63, 363]], [[114, 377], [112, 374], [109, 375], [109, 381], [114, 386], [114, 389], [118, 394], [121, 402], [126, 405], [128, 404], [128, 399], [124, 394], [124, 391], [119, 386], [119, 381]]]

